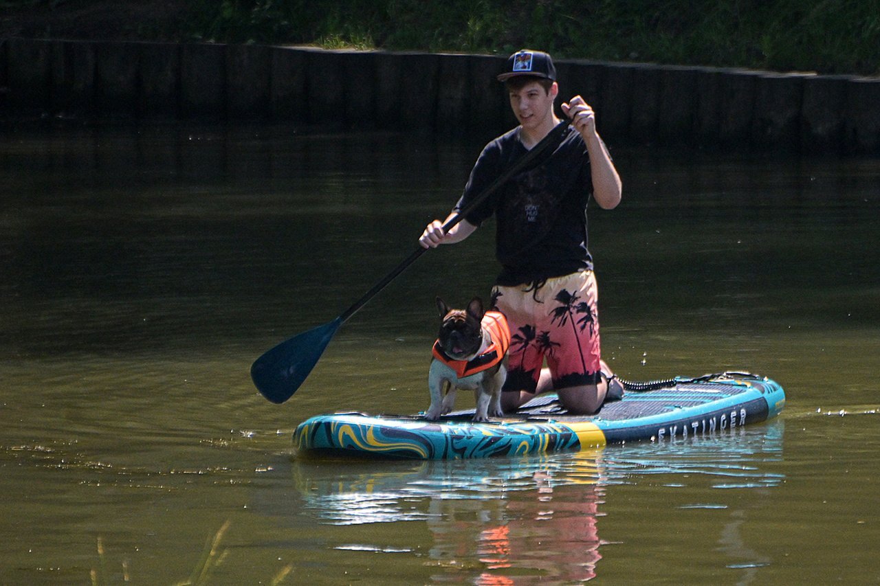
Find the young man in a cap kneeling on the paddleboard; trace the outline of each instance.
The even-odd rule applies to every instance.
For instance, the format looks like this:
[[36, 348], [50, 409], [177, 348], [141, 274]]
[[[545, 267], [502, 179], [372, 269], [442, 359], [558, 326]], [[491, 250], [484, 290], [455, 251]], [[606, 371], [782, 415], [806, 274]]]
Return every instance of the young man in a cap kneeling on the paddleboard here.
[[[559, 85], [550, 55], [518, 51], [498, 80], [507, 88], [519, 126], [486, 145], [449, 217], [560, 122], [554, 114]], [[586, 207], [590, 194], [601, 208], [616, 207], [620, 176], [596, 132], [590, 105], [575, 96], [561, 107], [571, 124], [552, 154], [510, 179], [449, 233], [442, 229], [444, 222], [435, 220], [419, 239], [424, 247], [454, 244], [495, 215], [495, 253], [502, 272], [492, 299], [513, 334], [502, 392], [505, 411], [536, 392], [554, 390], [569, 412], [595, 413], [613, 378], [599, 353]], [[545, 359], [549, 369], [542, 370]], [[620, 391], [616, 381], [612, 386]]]

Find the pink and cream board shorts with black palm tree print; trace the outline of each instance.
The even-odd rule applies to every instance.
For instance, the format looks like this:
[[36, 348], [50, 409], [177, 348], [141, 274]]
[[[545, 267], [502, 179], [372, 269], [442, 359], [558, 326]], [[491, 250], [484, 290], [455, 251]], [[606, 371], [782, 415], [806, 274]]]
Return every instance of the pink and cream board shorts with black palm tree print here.
[[554, 389], [599, 382], [598, 287], [592, 271], [537, 286], [496, 285], [492, 300], [510, 325], [504, 391], [535, 392], [545, 359]]

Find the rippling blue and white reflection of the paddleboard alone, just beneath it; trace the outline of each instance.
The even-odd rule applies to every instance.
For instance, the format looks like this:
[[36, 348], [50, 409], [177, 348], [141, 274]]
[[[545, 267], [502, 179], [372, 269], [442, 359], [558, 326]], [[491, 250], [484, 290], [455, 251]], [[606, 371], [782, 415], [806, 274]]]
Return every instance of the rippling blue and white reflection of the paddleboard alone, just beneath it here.
[[[526, 458], [397, 462], [346, 461], [345, 471], [323, 460], [295, 460], [297, 489], [316, 517], [331, 524], [424, 520], [411, 499], [494, 501], [510, 494], [552, 493], [561, 487], [636, 483], [663, 475], [667, 487], [682, 476], [705, 476], [714, 488], [775, 487], [784, 475], [766, 469], [782, 458], [784, 421], [725, 430], [718, 435], [605, 450]], [[377, 470], [378, 468], [378, 470]], [[699, 505], [693, 505], [699, 506]]]

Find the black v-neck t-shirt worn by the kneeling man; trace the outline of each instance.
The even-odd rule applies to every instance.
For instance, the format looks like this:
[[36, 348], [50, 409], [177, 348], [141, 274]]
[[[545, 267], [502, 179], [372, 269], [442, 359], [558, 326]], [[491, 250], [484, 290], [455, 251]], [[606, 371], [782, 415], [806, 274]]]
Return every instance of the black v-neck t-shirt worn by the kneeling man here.
[[[456, 211], [527, 152], [518, 128], [488, 143], [473, 165]], [[479, 226], [495, 214], [495, 255], [502, 264], [495, 282], [512, 286], [591, 269], [587, 248], [591, 193], [586, 145], [568, 127], [558, 148], [539, 157], [537, 164], [507, 181], [466, 216]]]

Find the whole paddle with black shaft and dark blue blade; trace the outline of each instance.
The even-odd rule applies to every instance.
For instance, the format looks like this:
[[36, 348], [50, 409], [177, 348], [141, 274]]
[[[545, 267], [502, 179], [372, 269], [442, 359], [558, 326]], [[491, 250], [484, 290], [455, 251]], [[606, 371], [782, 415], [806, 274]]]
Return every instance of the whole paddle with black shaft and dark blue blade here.
[[[444, 232], [450, 231], [453, 226], [461, 222], [480, 203], [486, 201], [486, 198], [493, 194], [498, 187], [501, 187], [518, 172], [522, 172], [547, 147], [551, 144], [559, 143], [562, 132], [565, 128], [568, 128], [568, 123], [568, 119], [565, 119], [557, 124], [547, 136], [532, 147], [532, 150], [496, 178], [482, 193], [474, 197], [473, 201], [465, 209], [461, 209], [456, 216], [451, 217], [447, 223], [444, 223]], [[290, 338], [290, 340], [282, 341], [275, 348], [268, 350], [266, 354], [257, 358], [253, 366], [251, 366], [253, 385], [257, 387], [266, 399], [273, 403], [283, 403], [290, 399], [293, 393], [297, 392], [299, 386], [303, 384], [305, 378], [309, 376], [309, 373], [312, 372], [336, 330], [348, 318], [355, 315], [356, 311], [361, 309], [372, 297], [375, 297], [379, 291], [385, 289], [388, 283], [392, 282], [397, 275], [400, 275], [427, 250], [427, 248], [419, 246], [414, 253], [410, 254], [406, 260], [395, 267], [384, 279], [376, 283], [372, 289], [367, 291], [351, 307], [343, 311], [338, 318], [323, 326], [314, 327], [307, 332], [299, 333]]]

